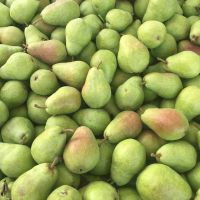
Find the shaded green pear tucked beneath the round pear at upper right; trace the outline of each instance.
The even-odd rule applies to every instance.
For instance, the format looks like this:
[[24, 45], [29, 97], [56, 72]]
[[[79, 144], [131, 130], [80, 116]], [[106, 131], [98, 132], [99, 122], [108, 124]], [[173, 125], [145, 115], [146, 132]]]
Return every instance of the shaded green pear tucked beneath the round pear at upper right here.
[[154, 49], [151, 49], [151, 53], [154, 57], [166, 59], [169, 56], [172, 56], [177, 53], [177, 44], [175, 38], [166, 34], [162, 44]]

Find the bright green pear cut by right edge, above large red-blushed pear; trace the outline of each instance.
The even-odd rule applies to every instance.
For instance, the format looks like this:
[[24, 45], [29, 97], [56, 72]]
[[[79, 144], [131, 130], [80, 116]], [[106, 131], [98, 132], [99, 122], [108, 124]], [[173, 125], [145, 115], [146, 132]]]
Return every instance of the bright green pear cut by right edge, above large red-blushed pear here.
[[188, 120], [200, 115], [200, 88], [197, 86], [185, 87], [176, 99], [175, 108], [182, 111]]

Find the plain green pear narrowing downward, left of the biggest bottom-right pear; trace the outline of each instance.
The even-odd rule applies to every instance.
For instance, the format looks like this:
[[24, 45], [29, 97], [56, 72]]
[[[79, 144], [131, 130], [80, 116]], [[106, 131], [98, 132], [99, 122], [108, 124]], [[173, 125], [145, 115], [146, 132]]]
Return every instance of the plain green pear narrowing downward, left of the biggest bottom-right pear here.
[[140, 142], [134, 139], [121, 141], [113, 151], [112, 180], [118, 186], [126, 185], [145, 166], [145, 162], [146, 151]]

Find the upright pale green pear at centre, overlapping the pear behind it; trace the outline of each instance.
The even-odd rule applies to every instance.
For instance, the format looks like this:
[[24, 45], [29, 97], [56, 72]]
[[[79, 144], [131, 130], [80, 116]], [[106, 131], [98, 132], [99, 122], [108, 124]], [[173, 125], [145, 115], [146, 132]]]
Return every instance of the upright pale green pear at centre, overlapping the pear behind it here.
[[111, 88], [102, 69], [92, 67], [89, 70], [82, 88], [82, 97], [90, 108], [101, 108], [108, 103]]

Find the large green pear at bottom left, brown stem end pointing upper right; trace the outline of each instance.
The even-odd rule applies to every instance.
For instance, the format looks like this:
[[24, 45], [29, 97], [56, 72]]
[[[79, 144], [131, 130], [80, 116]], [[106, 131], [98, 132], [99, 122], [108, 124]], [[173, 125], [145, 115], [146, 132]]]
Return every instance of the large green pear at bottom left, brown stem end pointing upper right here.
[[47, 199], [56, 183], [57, 177], [57, 169], [52, 164], [43, 163], [37, 165], [26, 171], [14, 182], [11, 191], [12, 199]]

